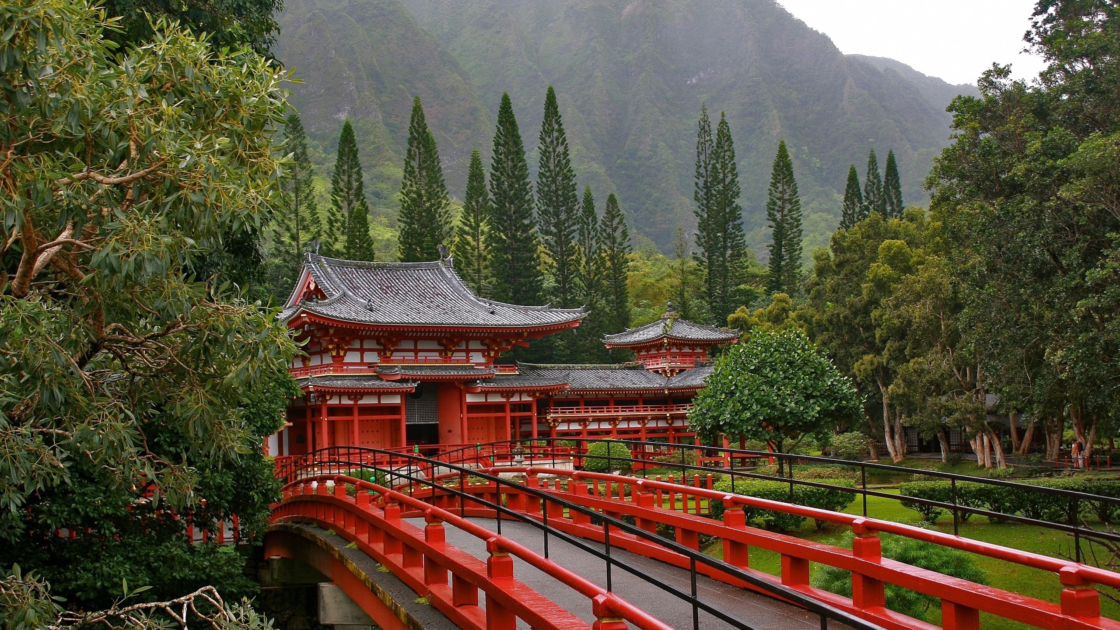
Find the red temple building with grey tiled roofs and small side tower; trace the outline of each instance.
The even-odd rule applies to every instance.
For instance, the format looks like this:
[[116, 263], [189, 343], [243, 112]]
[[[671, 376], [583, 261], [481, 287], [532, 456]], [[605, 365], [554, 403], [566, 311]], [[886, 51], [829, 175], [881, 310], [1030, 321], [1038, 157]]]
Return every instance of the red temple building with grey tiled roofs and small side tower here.
[[503, 352], [579, 325], [582, 309], [476, 296], [451, 260], [358, 262], [307, 254], [280, 314], [306, 353], [304, 396], [273, 455], [325, 446], [396, 448], [540, 436], [692, 441], [687, 415], [736, 332], [680, 319], [607, 335], [637, 361], [501, 364]]

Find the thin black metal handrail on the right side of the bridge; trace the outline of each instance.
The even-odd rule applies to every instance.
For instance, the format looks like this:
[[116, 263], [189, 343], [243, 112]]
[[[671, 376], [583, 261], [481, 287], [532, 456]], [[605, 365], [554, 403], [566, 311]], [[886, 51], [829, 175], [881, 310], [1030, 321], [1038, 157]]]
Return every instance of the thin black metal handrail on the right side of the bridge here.
[[[978, 516], [989, 517], [989, 518], [999, 519], [999, 520], [1007, 520], [1007, 521], [1018, 522], [1018, 524], [1023, 524], [1023, 525], [1033, 525], [1033, 526], [1037, 526], [1037, 527], [1044, 527], [1044, 528], [1047, 528], [1047, 529], [1053, 529], [1053, 530], [1056, 530], [1056, 531], [1062, 531], [1062, 532], [1065, 532], [1065, 534], [1072, 534], [1073, 535], [1073, 537], [1074, 537], [1074, 549], [1075, 549], [1077, 562], [1081, 562], [1081, 559], [1083, 558], [1083, 554], [1081, 552], [1081, 539], [1083, 537], [1084, 538], [1090, 538], [1090, 539], [1099, 539], [1099, 540], [1120, 541], [1120, 532], [1102, 531], [1100, 529], [1093, 529], [1091, 527], [1083, 526], [1083, 525], [1081, 525], [1081, 521], [1077, 518], [1077, 515], [1080, 513], [1081, 501], [1108, 502], [1108, 503], [1120, 506], [1120, 498], [1104, 497], [1104, 495], [1101, 495], [1101, 494], [1091, 494], [1091, 493], [1088, 493], [1088, 492], [1079, 492], [1079, 491], [1075, 491], [1075, 490], [1065, 490], [1065, 489], [1061, 489], [1061, 488], [1048, 488], [1048, 487], [1045, 487], [1045, 485], [1032, 485], [1032, 484], [1027, 484], [1027, 483], [1017, 483], [1017, 482], [1014, 482], [1014, 481], [1007, 481], [1007, 480], [1001, 480], [1001, 479], [977, 478], [977, 476], [970, 476], [970, 475], [964, 475], [964, 474], [959, 474], [959, 473], [949, 473], [949, 472], [943, 472], [943, 471], [915, 470], [915, 469], [908, 469], [908, 467], [905, 467], [905, 466], [895, 466], [895, 465], [890, 465], [890, 464], [880, 464], [878, 462], [860, 462], [860, 461], [855, 461], [855, 460], [838, 460], [838, 458], [834, 458], [834, 457], [824, 457], [824, 456], [819, 456], [819, 455], [797, 455], [797, 454], [794, 454], [794, 453], [776, 453], [776, 452], [769, 452], [769, 451], [752, 451], [752, 450], [746, 450], [746, 448], [731, 448], [731, 447], [724, 448], [721, 446], [704, 446], [704, 445], [697, 445], [697, 444], [673, 444], [673, 443], [652, 442], [652, 441], [645, 441], [645, 442], [643, 442], [643, 441], [637, 441], [637, 439], [581, 438], [581, 437], [564, 437], [564, 438], [559, 438], [559, 437], [557, 437], [557, 438], [553, 438], [553, 437], [538, 437], [535, 439], [529, 438], [529, 439], [510, 439], [510, 441], [489, 442], [489, 443], [485, 443], [485, 444], [477, 444], [475, 446], [465, 446], [465, 447], [456, 448], [456, 450], [452, 450], [452, 451], [448, 451], [448, 452], [445, 452], [441, 455], [439, 455], [439, 457], [451, 457], [452, 455], [458, 454], [460, 456], [459, 461], [465, 461], [465, 458], [466, 458], [465, 455], [467, 453], [469, 453], [470, 451], [476, 451], [476, 452], [485, 453], [485, 451], [488, 447], [489, 451], [491, 451], [491, 453], [493, 454], [493, 453], [497, 452], [497, 447], [498, 446], [510, 446], [510, 447], [512, 447], [512, 446], [515, 446], [515, 445], [523, 445], [523, 444], [528, 444], [528, 443], [532, 443], [532, 442], [536, 442], [536, 443], [544, 442], [544, 443], [551, 445], [551, 447], [553, 450], [557, 447], [558, 443], [561, 443], [561, 442], [575, 443], [577, 445], [576, 448], [578, 450], [578, 453], [569, 455], [569, 456], [580, 457], [582, 460], [589, 460], [589, 458], [592, 458], [592, 460], [594, 458], [606, 460], [607, 463], [608, 463], [608, 467], [613, 467], [613, 463], [614, 462], [618, 462], [618, 463], [626, 462], [626, 463], [631, 463], [631, 464], [642, 463], [643, 465], [647, 465], [647, 464], [651, 463], [651, 461], [646, 460], [646, 458], [636, 458], [636, 457], [633, 457], [633, 456], [632, 457], [618, 457], [618, 456], [612, 455], [609, 448], [607, 448], [607, 455], [591, 455], [591, 454], [589, 454], [587, 452], [588, 451], [587, 445], [594, 444], [594, 443], [609, 442], [609, 443], [615, 443], [615, 444], [624, 444], [627, 447], [636, 446], [636, 447], [640, 447], [640, 448], [643, 448], [643, 450], [647, 450], [651, 446], [656, 446], [657, 448], [680, 450], [681, 453], [682, 453], [682, 461], [680, 463], [664, 462], [663, 465], [665, 467], [671, 467], [671, 469], [681, 469], [682, 475], [683, 475], [683, 472], [685, 470], [697, 471], [697, 472], [703, 472], [703, 473], [713, 472], [711, 467], [700, 465], [699, 462], [697, 462], [696, 464], [689, 464], [689, 463], [687, 463], [684, 461], [684, 457], [683, 457], [683, 453], [685, 451], [690, 451], [690, 450], [691, 451], [696, 451], [698, 454], [701, 453], [701, 452], [718, 454], [718, 455], [706, 455], [709, 458], [717, 458], [717, 457], [722, 458], [724, 454], [726, 453], [727, 456], [728, 456], [728, 458], [729, 458], [729, 461], [731, 462], [731, 466], [730, 467], [726, 467], [726, 469], [719, 469], [719, 472], [721, 472], [724, 474], [728, 474], [732, 479], [732, 483], [734, 483], [734, 480], [736, 478], [757, 479], [757, 480], [763, 480], [763, 481], [780, 481], [782, 483], [788, 483], [790, 484], [791, 494], [793, 492], [793, 487], [794, 485], [805, 485], [805, 487], [812, 487], [812, 488], [824, 488], [824, 489], [830, 489], [830, 490], [841, 490], [841, 491], [844, 491], [844, 492], [851, 492], [852, 494], [859, 494], [859, 495], [862, 497], [862, 501], [864, 501], [864, 506], [862, 506], [864, 516], [867, 516], [867, 498], [868, 497], [878, 497], [878, 498], [890, 499], [890, 500], [899, 501], [899, 502], [917, 503], [917, 504], [922, 504], [922, 506], [936, 507], [936, 508], [941, 508], [941, 509], [948, 510], [949, 512], [952, 513], [952, 516], [953, 516], [953, 535], [954, 536], [960, 536], [960, 524], [962, 521], [962, 518], [961, 518], [962, 513], [978, 515]], [[564, 446], [564, 447], [567, 447], [567, 446]], [[510, 451], [507, 451], [507, 452], [510, 452]], [[633, 448], [632, 448], [632, 452], [633, 452]], [[646, 451], [643, 451], [643, 453], [645, 453], [645, 452]], [[503, 453], [503, 454], [505, 454], [505, 453]], [[784, 469], [788, 473], [788, 476], [777, 476], [777, 475], [759, 474], [759, 473], [750, 472], [748, 470], [743, 470], [743, 469], [736, 470], [735, 469], [735, 458], [736, 457], [740, 457], [741, 458], [744, 456], [754, 457], [754, 458], [762, 458], [762, 457], [769, 458], [769, 457], [773, 457], [773, 458], [776, 458], [776, 460], [782, 460], [783, 462], [787, 462], [788, 465], [784, 466]], [[859, 484], [858, 488], [848, 488], [848, 487], [844, 487], [844, 485], [833, 485], [833, 484], [828, 484], [828, 483], [820, 483], [819, 481], [795, 479], [793, 476], [793, 464], [794, 464], [794, 462], [813, 462], [813, 463], [822, 463], [822, 464], [829, 464], [829, 465], [842, 465], [842, 466], [849, 466], [849, 467], [858, 467], [860, 470], [860, 478], [861, 478], [860, 479], [860, 484]], [[662, 462], [657, 462], [657, 463], [662, 463]], [[903, 473], [903, 474], [909, 474], [909, 475], [921, 474], [921, 475], [936, 476], [936, 478], [945, 479], [945, 480], [948, 480], [948, 481], [950, 481], [952, 483], [952, 488], [951, 488], [952, 500], [951, 500], [951, 502], [945, 502], [945, 501], [936, 501], [936, 500], [932, 500], [932, 499], [923, 499], [923, 498], [920, 498], [920, 497], [909, 497], [909, 495], [903, 495], [903, 494], [892, 494], [892, 493], [888, 493], [888, 492], [878, 492], [878, 491], [875, 491], [875, 490], [868, 490], [868, 488], [867, 488], [867, 471], [868, 471], [868, 469], [888, 471], [888, 472], [893, 472], [893, 473]], [[643, 473], [643, 476], [645, 476], [645, 467], [644, 466], [642, 469], [642, 473]], [[1051, 495], [1064, 497], [1064, 498], [1066, 498], [1066, 499], [1070, 500], [1070, 507], [1068, 507], [1068, 512], [1067, 512], [1070, 515], [1068, 522], [1064, 522], [1064, 524], [1063, 522], [1054, 522], [1054, 521], [1051, 521], [1051, 520], [1036, 519], [1036, 518], [1024, 517], [1024, 516], [1018, 516], [1018, 515], [1007, 513], [1007, 512], [997, 512], [997, 511], [984, 510], [984, 509], [981, 509], [981, 508], [974, 508], [974, 507], [962, 504], [962, 503], [960, 503], [958, 501], [956, 482], [968, 482], [968, 483], [978, 483], [978, 484], [986, 484], [986, 485], [996, 485], [996, 487], [1001, 487], [1001, 488], [1011, 488], [1011, 489], [1015, 489], [1015, 490], [1026, 491], [1026, 492], [1037, 492], [1037, 493], [1042, 493], [1042, 494], [1051, 494]]]

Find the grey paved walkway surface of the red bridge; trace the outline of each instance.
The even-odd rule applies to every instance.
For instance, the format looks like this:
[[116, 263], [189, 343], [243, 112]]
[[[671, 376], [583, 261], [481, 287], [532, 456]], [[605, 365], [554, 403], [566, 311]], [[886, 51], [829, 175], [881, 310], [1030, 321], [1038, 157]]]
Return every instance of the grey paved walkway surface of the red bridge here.
[[[495, 530], [493, 519], [472, 519], [478, 525]], [[423, 527], [422, 519], [411, 519], [418, 527]], [[474, 536], [465, 534], [455, 527], [446, 527], [447, 541], [459, 549], [467, 552], [478, 558], [485, 558], [486, 543]], [[538, 553], [544, 553], [544, 537], [535, 527], [514, 521], [502, 521], [502, 534]], [[603, 545], [585, 540], [587, 545], [596, 546], [599, 549]], [[612, 555], [617, 556], [632, 567], [642, 573], [656, 577], [665, 583], [672, 584], [688, 593], [691, 590], [689, 572], [660, 560], [646, 558], [612, 548]], [[584, 577], [606, 586], [606, 563], [590, 553], [569, 545], [554, 537], [549, 538], [549, 557], [561, 566], [582, 575]], [[591, 602], [576, 591], [561, 585], [559, 582], [544, 574], [540, 569], [530, 566], [525, 562], [514, 558], [514, 576], [540, 593], [549, 596], [552, 601], [571, 611], [588, 623], [595, 621], [591, 615]], [[625, 569], [614, 567], [612, 572], [612, 587], [618, 596], [643, 608], [679, 630], [691, 630], [692, 628], [692, 605], [684, 600], [662, 590], [655, 584], [651, 584]], [[820, 618], [808, 613], [796, 606], [780, 602], [766, 595], [737, 589], [722, 582], [717, 582], [703, 575], [697, 578], [697, 592], [701, 600], [719, 605], [726, 612], [737, 615], [757, 630], [819, 630]], [[519, 628], [529, 628], [521, 624]], [[722, 630], [735, 628], [711, 614], [700, 611], [700, 628], [703, 630]], [[829, 628], [840, 630], [839, 623], [830, 622]]]

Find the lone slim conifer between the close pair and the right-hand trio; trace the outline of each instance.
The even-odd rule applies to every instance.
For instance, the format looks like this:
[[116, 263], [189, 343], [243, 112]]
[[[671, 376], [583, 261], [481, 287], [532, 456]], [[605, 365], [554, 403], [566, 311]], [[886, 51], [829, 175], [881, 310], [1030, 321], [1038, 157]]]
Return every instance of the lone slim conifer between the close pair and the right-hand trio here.
[[797, 287], [801, 270], [801, 197], [797, 180], [793, 177], [793, 160], [778, 142], [774, 168], [771, 173], [766, 200], [766, 219], [771, 228], [769, 276], [771, 293], [792, 294]]

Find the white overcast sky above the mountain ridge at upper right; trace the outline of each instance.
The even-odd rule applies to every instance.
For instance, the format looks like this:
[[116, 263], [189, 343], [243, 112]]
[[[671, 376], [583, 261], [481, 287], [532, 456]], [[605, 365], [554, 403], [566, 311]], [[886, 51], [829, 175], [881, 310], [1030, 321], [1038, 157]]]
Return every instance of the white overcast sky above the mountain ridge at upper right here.
[[1023, 54], [1034, 0], [777, 0], [844, 54], [890, 57], [950, 83], [976, 83], [992, 62], [1033, 78]]

